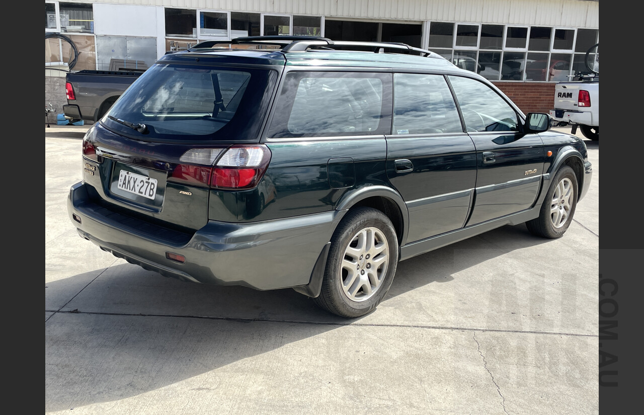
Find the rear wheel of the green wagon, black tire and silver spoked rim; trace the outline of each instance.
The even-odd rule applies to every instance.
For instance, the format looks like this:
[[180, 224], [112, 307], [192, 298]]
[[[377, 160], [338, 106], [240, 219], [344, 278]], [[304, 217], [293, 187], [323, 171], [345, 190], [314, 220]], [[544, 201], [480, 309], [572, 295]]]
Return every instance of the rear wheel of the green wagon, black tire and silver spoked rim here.
[[331, 238], [322, 290], [313, 300], [340, 317], [368, 314], [389, 291], [397, 264], [398, 239], [389, 218], [374, 208], [350, 210]]

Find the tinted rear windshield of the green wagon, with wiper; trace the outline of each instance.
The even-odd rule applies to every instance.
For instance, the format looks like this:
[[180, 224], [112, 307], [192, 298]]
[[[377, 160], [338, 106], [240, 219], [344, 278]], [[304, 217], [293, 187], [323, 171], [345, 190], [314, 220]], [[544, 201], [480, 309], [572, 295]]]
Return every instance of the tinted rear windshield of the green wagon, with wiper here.
[[151, 141], [257, 140], [276, 78], [270, 69], [157, 64], [126, 90], [101, 122]]

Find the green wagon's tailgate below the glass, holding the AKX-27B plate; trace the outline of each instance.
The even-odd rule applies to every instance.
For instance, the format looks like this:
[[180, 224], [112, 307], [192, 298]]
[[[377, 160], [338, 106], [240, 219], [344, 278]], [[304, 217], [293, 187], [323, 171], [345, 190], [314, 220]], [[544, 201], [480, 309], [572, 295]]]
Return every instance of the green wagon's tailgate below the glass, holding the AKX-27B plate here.
[[210, 189], [193, 178], [202, 167], [179, 160], [194, 145], [144, 143], [100, 124], [94, 129], [97, 133], [88, 141], [96, 156], [84, 157], [83, 180], [100, 199], [123, 215], [147, 217], [160, 225], [190, 230], [206, 225]]

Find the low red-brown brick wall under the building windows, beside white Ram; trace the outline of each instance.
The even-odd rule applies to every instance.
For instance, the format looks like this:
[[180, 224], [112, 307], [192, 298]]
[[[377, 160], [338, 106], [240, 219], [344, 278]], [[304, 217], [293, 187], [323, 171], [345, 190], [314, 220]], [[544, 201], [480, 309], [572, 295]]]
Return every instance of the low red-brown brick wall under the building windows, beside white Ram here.
[[521, 111], [548, 113], [554, 105], [554, 82], [493, 82]]

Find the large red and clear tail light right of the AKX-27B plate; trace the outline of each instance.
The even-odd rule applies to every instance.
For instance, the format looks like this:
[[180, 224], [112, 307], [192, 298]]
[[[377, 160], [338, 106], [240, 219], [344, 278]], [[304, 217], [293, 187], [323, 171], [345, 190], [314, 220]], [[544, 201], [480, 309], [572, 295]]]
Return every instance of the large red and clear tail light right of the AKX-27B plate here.
[[191, 149], [179, 160], [186, 164], [176, 166], [169, 180], [203, 184], [212, 189], [252, 189], [266, 172], [270, 150], [263, 144], [240, 144], [227, 149]]

